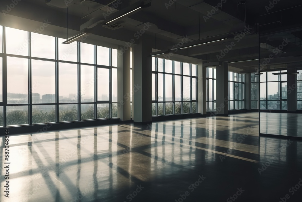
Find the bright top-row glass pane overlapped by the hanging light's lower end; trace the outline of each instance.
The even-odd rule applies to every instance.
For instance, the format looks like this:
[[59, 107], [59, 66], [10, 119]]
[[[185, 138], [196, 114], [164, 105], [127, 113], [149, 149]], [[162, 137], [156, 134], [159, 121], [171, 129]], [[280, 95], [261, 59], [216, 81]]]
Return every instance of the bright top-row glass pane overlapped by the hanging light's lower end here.
[[62, 44], [66, 39], [58, 38], [59, 41], [59, 60], [78, 61], [78, 42], [74, 41], [71, 44]]

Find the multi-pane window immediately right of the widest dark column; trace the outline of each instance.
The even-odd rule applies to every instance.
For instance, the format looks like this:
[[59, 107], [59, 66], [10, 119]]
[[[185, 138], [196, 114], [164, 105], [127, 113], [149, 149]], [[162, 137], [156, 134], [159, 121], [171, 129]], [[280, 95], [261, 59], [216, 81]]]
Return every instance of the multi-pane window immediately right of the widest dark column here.
[[152, 58], [152, 116], [197, 112], [197, 65]]

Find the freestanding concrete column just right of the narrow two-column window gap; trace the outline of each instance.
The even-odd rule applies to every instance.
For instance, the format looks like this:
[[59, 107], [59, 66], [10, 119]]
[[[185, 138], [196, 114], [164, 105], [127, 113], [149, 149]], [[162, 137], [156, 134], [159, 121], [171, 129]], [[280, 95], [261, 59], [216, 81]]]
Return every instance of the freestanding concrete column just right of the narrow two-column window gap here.
[[216, 67], [216, 115], [228, 116], [229, 114], [229, 83], [228, 64], [223, 62]]

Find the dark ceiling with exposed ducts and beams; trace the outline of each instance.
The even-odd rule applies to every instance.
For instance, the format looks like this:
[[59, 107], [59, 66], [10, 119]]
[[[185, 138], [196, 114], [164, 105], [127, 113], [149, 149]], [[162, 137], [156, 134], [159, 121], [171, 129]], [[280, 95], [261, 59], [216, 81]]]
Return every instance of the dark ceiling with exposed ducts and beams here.
[[[110, 44], [123, 45], [130, 41], [133, 34], [139, 31], [144, 23], [152, 25], [146, 31], [146, 35], [154, 39], [153, 48], [157, 50], [168, 50], [179, 43], [183, 36], [189, 38], [188, 44], [227, 38], [223, 41], [179, 50], [172, 58], [176, 60], [181, 58], [193, 63], [204, 61], [207, 65], [258, 59], [258, 33], [260, 33], [260, 58], [269, 56], [274, 48], [282, 44], [283, 39], [290, 40], [282, 52], [274, 55], [274, 60], [271, 60], [271, 64], [265, 66], [264, 70], [293, 66], [288, 65], [289, 63], [294, 63], [294, 66], [298, 67], [302, 62], [302, 57], [297, 57], [302, 55], [300, 44], [302, 38], [302, 23], [300, 22], [302, 6], [300, 5], [302, 2], [300, 0], [276, 0], [275, 2], [278, 3], [275, 5], [270, 5], [272, 2], [270, 0], [244, 0], [245, 4], [237, 0], [152, 0], [151, 6], [120, 18], [117, 22], [110, 23], [110, 26], [104, 26], [104, 22], [112, 16], [119, 12], [125, 13], [131, 6], [144, 2], [118, 0], [110, 4], [112, 1], [22, 0], [11, 9], [9, 15], [38, 22], [49, 19], [52, 22], [53, 33], [50, 31], [48, 34], [62, 37], [67, 35], [67, 26], [70, 37], [76, 31], [90, 25], [93, 36], [87, 42], [92, 43], [93, 39], [101, 44], [107, 43], [108, 46]], [[62, 2], [67, 3], [64, 5]], [[11, 4], [11, 1], [3, 0], [0, 4], [2, 11]], [[110, 5], [105, 6], [107, 4]], [[217, 5], [219, 9], [215, 11], [214, 7]], [[210, 14], [211, 12], [213, 15]], [[109, 14], [107, 19], [104, 17], [106, 14]], [[5, 21], [8, 22], [8, 16], [6, 17], [0, 18], [2, 24], [5, 24]], [[31, 21], [27, 22], [28, 27], [31, 26]], [[260, 24], [259, 28], [257, 23]], [[111, 24], [120, 28], [113, 29]], [[248, 32], [246, 27], [250, 28]], [[238, 40], [240, 33], [245, 34]], [[232, 42], [235, 45], [220, 58], [223, 55], [222, 52], [230, 47]], [[258, 61], [230, 63], [229, 66], [236, 72], [252, 72], [258, 66]]]

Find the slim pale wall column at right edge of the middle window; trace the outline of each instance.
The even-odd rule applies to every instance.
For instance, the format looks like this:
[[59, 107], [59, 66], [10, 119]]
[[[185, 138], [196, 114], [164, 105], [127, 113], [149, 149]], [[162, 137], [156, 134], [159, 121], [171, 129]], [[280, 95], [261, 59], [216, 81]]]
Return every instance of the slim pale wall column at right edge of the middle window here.
[[203, 67], [203, 61], [198, 62], [198, 113], [207, 114], [207, 68]]

